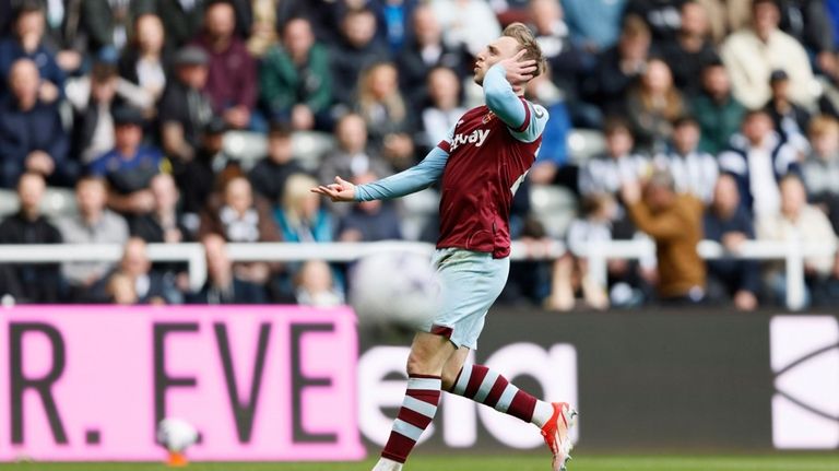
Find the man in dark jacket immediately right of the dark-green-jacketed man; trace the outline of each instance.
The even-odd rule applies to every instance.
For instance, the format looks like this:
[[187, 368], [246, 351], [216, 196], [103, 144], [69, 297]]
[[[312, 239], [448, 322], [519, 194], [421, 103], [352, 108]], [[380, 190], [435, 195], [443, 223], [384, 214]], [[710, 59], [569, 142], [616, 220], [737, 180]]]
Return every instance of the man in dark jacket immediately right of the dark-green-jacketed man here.
[[351, 9], [341, 20], [341, 40], [331, 48], [332, 78], [341, 84], [334, 98], [345, 107], [355, 103], [356, 90], [363, 70], [388, 57], [385, 46], [376, 40], [376, 16], [367, 9]]

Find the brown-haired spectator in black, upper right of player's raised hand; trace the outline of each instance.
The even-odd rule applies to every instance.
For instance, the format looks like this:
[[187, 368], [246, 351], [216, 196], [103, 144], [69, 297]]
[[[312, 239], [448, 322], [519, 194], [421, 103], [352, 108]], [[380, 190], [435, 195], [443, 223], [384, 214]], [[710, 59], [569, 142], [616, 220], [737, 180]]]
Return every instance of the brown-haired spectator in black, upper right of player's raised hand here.
[[[598, 20], [602, 21], [602, 20]], [[598, 57], [598, 67], [588, 79], [589, 93], [605, 114], [624, 110], [624, 97], [629, 87], [647, 69], [650, 55], [650, 30], [638, 16], [624, 20], [621, 39]]]

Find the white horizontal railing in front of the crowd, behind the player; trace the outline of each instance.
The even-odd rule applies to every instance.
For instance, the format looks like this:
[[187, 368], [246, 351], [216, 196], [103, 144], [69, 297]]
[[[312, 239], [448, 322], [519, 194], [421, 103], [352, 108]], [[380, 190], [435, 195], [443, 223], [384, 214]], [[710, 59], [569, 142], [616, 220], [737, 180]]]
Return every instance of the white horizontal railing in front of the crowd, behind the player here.
[[[782, 260], [787, 270], [787, 307], [800, 309], [804, 306], [804, 258], [831, 257], [836, 248], [829, 244], [802, 245], [795, 242], [748, 240], [731, 252], [712, 240], [702, 240], [697, 247], [705, 259], [736, 258], [753, 260]], [[300, 261], [320, 259], [346, 262], [382, 251], [410, 251], [430, 255], [432, 244], [413, 242], [383, 243], [260, 243], [228, 244], [227, 252], [234, 261]], [[567, 248], [559, 242], [546, 245], [528, 245], [516, 242], [512, 245], [512, 260], [555, 259], [566, 254]], [[592, 275], [601, 283], [606, 280], [608, 259], [641, 259], [652, 257], [654, 245], [648, 239], [613, 240], [590, 243], [575, 247], [577, 256], [589, 260]], [[204, 249], [200, 244], [150, 244], [149, 258], [152, 261], [185, 262], [188, 267], [190, 286], [198, 290], [206, 280]], [[122, 256], [118, 244], [57, 244], [57, 245], [0, 245], [0, 262], [3, 263], [57, 263], [73, 261], [117, 261]]]

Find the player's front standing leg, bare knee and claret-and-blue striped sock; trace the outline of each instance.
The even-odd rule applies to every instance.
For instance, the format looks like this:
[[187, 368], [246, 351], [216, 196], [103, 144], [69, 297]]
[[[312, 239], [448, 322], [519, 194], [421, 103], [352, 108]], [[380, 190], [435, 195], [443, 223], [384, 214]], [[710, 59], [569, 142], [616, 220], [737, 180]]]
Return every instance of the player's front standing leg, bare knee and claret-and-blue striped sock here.
[[418, 332], [407, 357], [407, 388], [381, 459], [374, 471], [402, 469], [420, 436], [437, 413], [442, 367], [454, 352], [445, 337]]

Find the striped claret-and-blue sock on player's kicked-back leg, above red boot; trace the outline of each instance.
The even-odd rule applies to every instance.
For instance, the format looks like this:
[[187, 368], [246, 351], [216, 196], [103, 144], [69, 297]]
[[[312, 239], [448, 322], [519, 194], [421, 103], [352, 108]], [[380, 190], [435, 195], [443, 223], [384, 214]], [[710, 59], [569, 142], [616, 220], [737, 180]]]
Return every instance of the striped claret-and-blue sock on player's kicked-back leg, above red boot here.
[[464, 365], [451, 393], [472, 399], [537, 427], [554, 414], [554, 407], [517, 388], [504, 376], [483, 365]]

